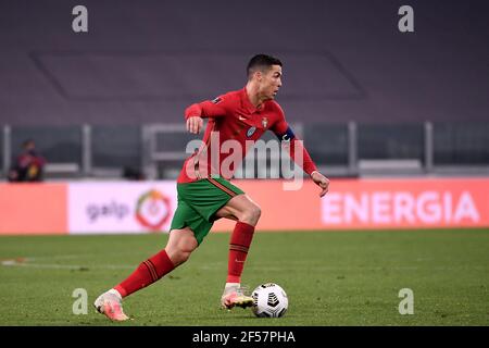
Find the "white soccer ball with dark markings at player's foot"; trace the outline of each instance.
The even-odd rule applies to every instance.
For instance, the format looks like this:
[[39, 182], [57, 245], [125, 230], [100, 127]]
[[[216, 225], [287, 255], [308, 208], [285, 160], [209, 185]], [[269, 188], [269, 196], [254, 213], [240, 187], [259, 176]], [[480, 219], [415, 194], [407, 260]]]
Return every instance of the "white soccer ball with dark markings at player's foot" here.
[[279, 318], [289, 308], [287, 294], [274, 283], [259, 285], [251, 297], [253, 298], [253, 313], [259, 318]]

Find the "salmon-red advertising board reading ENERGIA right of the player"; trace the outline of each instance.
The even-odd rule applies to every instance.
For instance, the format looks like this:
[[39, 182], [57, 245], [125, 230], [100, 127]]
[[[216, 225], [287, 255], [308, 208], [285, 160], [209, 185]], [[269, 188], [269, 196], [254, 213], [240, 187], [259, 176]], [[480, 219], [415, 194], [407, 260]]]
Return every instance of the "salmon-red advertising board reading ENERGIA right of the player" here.
[[[318, 198], [311, 181], [287, 191], [280, 181], [235, 181], [262, 208], [258, 228], [348, 229], [489, 226], [489, 179], [333, 179]], [[216, 229], [233, 228], [217, 222]]]

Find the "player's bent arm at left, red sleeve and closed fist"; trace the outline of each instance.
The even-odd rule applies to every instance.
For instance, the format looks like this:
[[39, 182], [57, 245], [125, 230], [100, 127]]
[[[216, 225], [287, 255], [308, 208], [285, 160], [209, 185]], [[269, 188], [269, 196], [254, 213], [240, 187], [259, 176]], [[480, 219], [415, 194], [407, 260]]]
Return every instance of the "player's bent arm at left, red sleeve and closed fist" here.
[[226, 96], [191, 104], [185, 110], [187, 130], [193, 134], [200, 133], [203, 126], [202, 119], [225, 116], [228, 111], [228, 104], [229, 100]]

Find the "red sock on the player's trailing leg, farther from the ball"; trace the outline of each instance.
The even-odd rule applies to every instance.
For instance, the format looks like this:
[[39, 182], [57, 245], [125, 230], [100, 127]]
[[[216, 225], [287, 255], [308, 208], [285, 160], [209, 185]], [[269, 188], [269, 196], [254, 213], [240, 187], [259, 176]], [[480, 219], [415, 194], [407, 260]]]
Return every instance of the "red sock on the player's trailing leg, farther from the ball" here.
[[141, 262], [136, 271], [133, 272], [124, 282], [114, 287], [122, 297], [147, 287], [160, 279], [163, 275], [175, 269], [170, 260], [166, 250], [162, 250], [155, 256]]

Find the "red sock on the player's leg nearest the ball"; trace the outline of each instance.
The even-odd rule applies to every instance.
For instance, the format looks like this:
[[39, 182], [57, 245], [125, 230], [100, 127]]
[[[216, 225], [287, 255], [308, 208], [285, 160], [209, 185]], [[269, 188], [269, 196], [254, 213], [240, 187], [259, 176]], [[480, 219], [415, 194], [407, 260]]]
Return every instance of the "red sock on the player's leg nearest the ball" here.
[[254, 226], [238, 221], [233, 231], [229, 245], [229, 259], [227, 263], [227, 283], [241, 283], [241, 273], [248, 256]]

